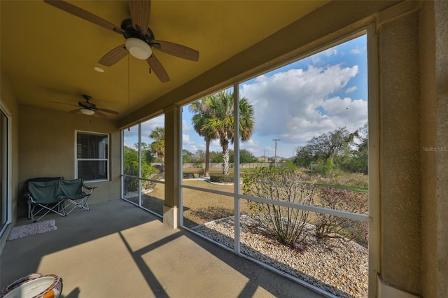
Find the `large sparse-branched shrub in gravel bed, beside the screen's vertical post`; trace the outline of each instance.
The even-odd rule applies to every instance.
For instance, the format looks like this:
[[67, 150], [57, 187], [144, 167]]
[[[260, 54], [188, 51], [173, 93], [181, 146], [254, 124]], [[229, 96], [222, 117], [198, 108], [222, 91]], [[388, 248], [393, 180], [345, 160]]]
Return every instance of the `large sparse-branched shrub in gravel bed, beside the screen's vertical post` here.
[[[290, 168], [256, 168], [243, 175], [243, 184], [244, 194], [254, 197], [295, 204], [311, 204], [313, 200], [314, 185], [304, 183], [302, 175]], [[276, 236], [280, 243], [292, 245], [303, 241], [308, 211], [257, 201], [248, 201], [248, 207], [259, 215], [262, 228]]]

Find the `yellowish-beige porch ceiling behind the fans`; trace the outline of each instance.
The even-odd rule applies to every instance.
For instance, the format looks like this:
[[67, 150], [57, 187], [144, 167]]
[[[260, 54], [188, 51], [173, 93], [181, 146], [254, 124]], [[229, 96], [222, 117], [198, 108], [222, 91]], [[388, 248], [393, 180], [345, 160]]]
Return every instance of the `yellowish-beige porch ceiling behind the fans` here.
[[[127, 1], [69, 2], [118, 27], [129, 17]], [[130, 55], [102, 66], [104, 73], [94, 71], [99, 58], [124, 43], [120, 34], [41, 0], [0, 1], [1, 72], [20, 104], [71, 111], [76, 107], [66, 104], [89, 94], [99, 108], [118, 111], [111, 117], [118, 120], [326, 2], [152, 1], [149, 27], [155, 38], [200, 52], [199, 62], [191, 62], [155, 51], [171, 78], [161, 83], [145, 61]]]

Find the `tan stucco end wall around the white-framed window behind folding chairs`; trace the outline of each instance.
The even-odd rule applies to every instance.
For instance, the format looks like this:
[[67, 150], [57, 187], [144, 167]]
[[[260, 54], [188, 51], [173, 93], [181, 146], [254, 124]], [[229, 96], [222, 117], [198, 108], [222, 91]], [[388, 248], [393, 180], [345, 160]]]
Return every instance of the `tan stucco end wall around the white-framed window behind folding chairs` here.
[[75, 175], [75, 131], [111, 134], [111, 181], [89, 183], [97, 190], [90, 203], [120, 198], [120, 131], [116, 122], [96, 116], [20, 106], [19, 183], [41, 176]]

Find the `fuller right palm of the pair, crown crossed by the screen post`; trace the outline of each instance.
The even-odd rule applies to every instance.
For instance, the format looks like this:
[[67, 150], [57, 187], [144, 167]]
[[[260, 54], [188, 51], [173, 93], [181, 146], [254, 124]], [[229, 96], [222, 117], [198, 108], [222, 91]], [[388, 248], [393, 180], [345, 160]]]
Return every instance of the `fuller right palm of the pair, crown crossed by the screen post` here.
[[[229, 174], [229, 141], [233, 143], [235, 129], [233, 127], [233, 92], [219, 92], [204, 98], [204, 104], [209, 106], [211, 118], [207, 118], [204, 130], [219, 139], [223, 148], [223, 174]], [[253, 106], [246, 97], [239, 100], [239, 136], [242, 141], [251, 138], [253, 132]]]

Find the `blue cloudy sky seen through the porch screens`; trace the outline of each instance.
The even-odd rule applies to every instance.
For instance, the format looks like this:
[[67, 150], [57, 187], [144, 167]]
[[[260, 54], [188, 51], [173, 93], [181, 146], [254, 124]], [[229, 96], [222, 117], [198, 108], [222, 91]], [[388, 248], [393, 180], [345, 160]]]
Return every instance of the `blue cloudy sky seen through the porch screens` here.
[[[240, 143], [255, 157], [292, 157], [297, 146], [314, 136], [346, 127], [349, 132], [367, 122], [367, 36], [318, 52], [239, 85], [240, 97], [254, 108], [251, 139]], [[188, 106], [182, 112], [182, 146], [205, 150], [193, 129]], [[164, 116], [142, 124], [141, 141], [151, 143], [151, 131], [164, 125]], [[137, 143], [137, 128], [125, 131], [125, 144]], [[276, 150], [275, 150], [275, 141]], [[221, 152], [219, 140], [211, 151]]]

